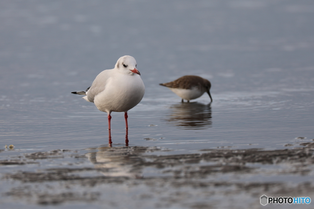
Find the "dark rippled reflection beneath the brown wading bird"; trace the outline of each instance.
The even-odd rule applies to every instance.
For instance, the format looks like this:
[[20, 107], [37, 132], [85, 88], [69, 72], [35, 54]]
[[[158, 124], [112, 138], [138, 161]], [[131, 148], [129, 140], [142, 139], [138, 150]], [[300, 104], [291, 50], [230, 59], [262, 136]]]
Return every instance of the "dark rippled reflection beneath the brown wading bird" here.
[[198, 102], [180, 103], [170, 107], [168, 124], [184, 129], [207, 129], [212, 127], [212, 110], [210, 104]]

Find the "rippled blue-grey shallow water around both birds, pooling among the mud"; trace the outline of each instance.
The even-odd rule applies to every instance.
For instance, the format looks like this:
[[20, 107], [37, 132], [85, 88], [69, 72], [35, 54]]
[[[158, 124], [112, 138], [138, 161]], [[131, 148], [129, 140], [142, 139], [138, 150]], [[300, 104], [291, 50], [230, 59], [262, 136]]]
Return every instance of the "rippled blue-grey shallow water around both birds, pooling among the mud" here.
[[[12, 160], [56, 149], [85, 156], [86, 149], [106, 147], [106, 113], [70, 92], [85, 90], [95, 76], [113, 68], [123, 55], [137, 60], [146, 87], [143, 100], [128, 112], [131, 149], [157, 147], [167, 151], [154, 150], [156, 155], [166, 156], [201, 153], [204, 149], [299, 149], [301, 143], [314, 138], [313, 14], [310, 0], [3, 1], [0, 158]], [[181, 98], [158, 85], [183, 75], [211, 81], [213, 102], [209, 104], [204, 94], [190, 103], [181, 103]], [[125, 146], [123, 113], [112, 113], [111, 128], [113, 147]], [[14, 150], [5, 149], [5, 144], [13, 144]], [[73, 160], [65, 159], [64, 165]], [[63, 165], [49, 160], [36, 162], [20, 169], [35, 172], [37, 166]], [[92, 162], [84, 161], [79, 167], [85, 165], [92, 166]], [[13, 170], [9, 165], [0, 166], [2, 176], [19, 170], [19, 166]], [[311, 172], [296, 174], [293, 182], [312, 181], [310, 165], [308, 169]], [[256, 173], [249, 176], [241, 180], [249, 184], [260, 177]], [[291, 180], [289, 175], [276, 172], [269, 178], [261, 176], [263, 182], [276, 181], [283, 186]], [[6, 180], [1, 182], [8, 184]], [[13, 189], [20, 185], [19, 180], [12, 182]], [[121, 192], [123, 186], [116, 192]], [[312, 189], [300, 191], [313, 194]], [[132, 192], [140, 194], [135, 189]], [[262, 193], [254, 194], [258, 199]], [[212, 201], [221, 203], [226, 196], [216, 196]], [[127, 193], [123, 197], [128, 198]], [[159, 197], [148, 199], [158, 202]], [[93, 198], [82, 204], [93, 202]], [[97, 198], [95, 208], [100, 207]], [[191, 202], [196, 199], [191, 197]], [[4, 204], [3, 200], [0, 198]], [[136, 200], [129, 201], [134, 208], [138, 207]], [[251, 204], [249, 199], [246, 202]], [[220, 203], [217, 208], [230, 206]], [[36, 204], [31, 201], [24, 206]], [[74, 207], [73, 201], [60, 204]], [[206, 206], [207, 202], [187, 207]]]

